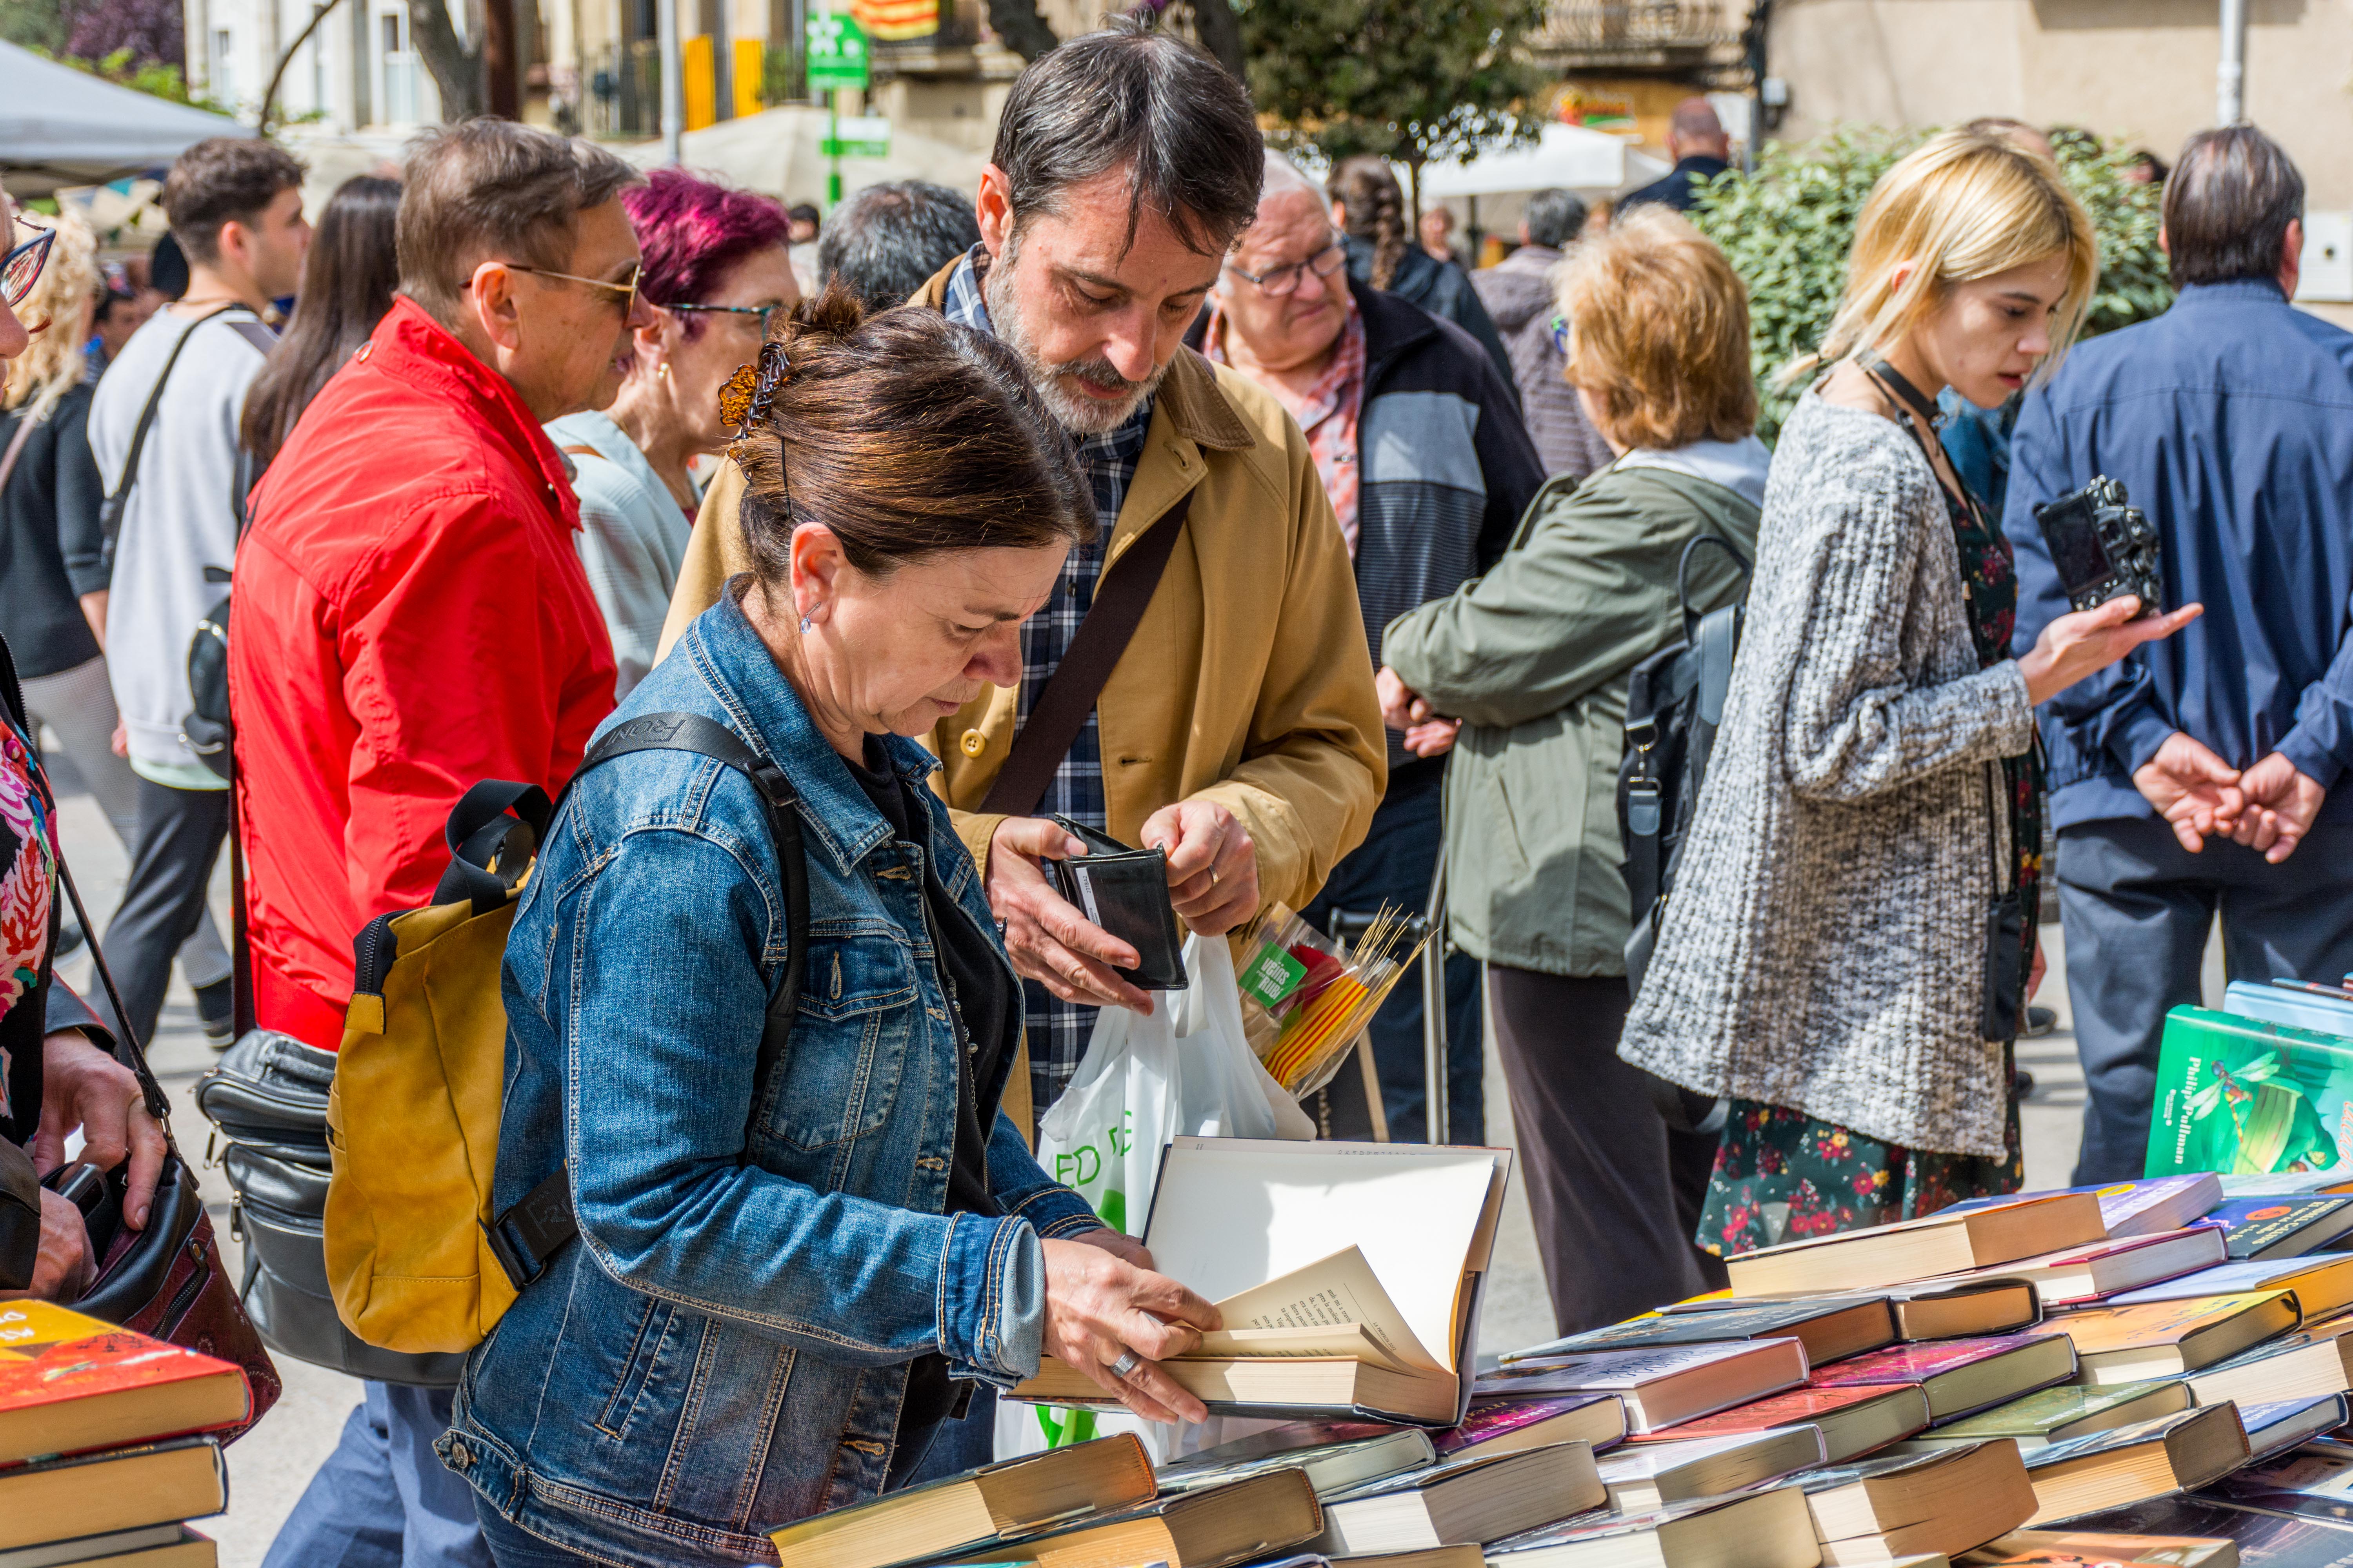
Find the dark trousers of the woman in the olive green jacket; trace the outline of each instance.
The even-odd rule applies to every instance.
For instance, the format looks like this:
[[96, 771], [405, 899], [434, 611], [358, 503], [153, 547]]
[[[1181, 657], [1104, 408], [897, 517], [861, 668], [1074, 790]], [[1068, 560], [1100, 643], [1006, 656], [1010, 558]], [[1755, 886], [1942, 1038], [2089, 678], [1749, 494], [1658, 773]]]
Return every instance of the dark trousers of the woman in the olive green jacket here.
[[1487, 999], [1560, 1333], [1720, 1284], [1692, 1246], [1718, 1138], [1671, 1133], [1619, 1060], [1626, 980], [1489, 964]]

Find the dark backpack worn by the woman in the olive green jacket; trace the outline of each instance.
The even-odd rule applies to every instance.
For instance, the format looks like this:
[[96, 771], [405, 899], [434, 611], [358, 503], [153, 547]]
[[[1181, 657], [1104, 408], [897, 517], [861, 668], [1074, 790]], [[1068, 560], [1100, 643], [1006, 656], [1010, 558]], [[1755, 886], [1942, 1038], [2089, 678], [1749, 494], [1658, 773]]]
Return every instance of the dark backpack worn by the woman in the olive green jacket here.
[[1626, 846], [1626, 891], [1633, 936], [1626, 938], [1626, 990], [1642, 990], [1642, 971], [1659, 940], [1666, 898], [1682, 865], [1682, 842], [1699, 811], [1715, 731], [1725, 722], [1732, 656], [1741, 646], [1741, 604], [1692, 611], [1692, 555], [1715, 545], [1748, 576], [1748, 557], [1732, 541], [1701, 534], [1675, 564], [1682, 642], [1659, 649], [1626, 679], [1626, 757], [1619, 762], [1619, 839]]

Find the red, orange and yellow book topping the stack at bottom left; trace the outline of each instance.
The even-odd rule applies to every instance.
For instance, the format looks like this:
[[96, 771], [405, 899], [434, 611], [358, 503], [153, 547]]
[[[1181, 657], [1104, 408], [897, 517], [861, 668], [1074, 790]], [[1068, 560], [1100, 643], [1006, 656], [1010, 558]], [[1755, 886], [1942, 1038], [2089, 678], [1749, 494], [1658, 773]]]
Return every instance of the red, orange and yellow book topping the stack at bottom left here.
[[0, 1465], [219, 1432], [252, 1408], [231, 1361], [52, 1302], [0, 1302]]

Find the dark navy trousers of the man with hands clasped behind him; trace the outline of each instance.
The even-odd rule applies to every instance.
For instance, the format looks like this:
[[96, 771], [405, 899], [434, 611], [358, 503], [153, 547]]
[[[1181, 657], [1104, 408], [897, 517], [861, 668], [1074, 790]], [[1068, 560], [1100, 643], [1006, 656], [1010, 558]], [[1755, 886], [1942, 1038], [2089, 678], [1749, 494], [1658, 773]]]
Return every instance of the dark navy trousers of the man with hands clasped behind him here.
[[2155, 818], [2059, 830], [2066, 990], [2087, 1091], [2078, 1185], [2141, 1175], [2165, 1013], [2198, 1006], [2217, 914], [2233, 980], [2353, 971], [2353, 823], [2315, 825], [2280, 865], [2226, 839], [2193, 856]]

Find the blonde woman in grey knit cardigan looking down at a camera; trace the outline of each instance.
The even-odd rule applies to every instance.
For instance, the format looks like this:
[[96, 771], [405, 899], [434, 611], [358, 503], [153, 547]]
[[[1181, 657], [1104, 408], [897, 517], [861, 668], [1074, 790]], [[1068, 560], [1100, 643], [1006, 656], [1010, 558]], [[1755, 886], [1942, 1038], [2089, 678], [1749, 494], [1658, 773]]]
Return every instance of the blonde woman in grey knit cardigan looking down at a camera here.
[[1948, 132], [1857, 223], [1828, 367], [1781, 430], [1748, 625], [1682, 872], [1619, 1053], [1729, 1095], [1699, 1244], [1729, 1255], [2019, 1185], [2033, 708], [2198, 607], [2057, 618], [2009, 658], [2017, 576], [1934, 400], [2047, 374], [2099, 275], [2049, 160]]

